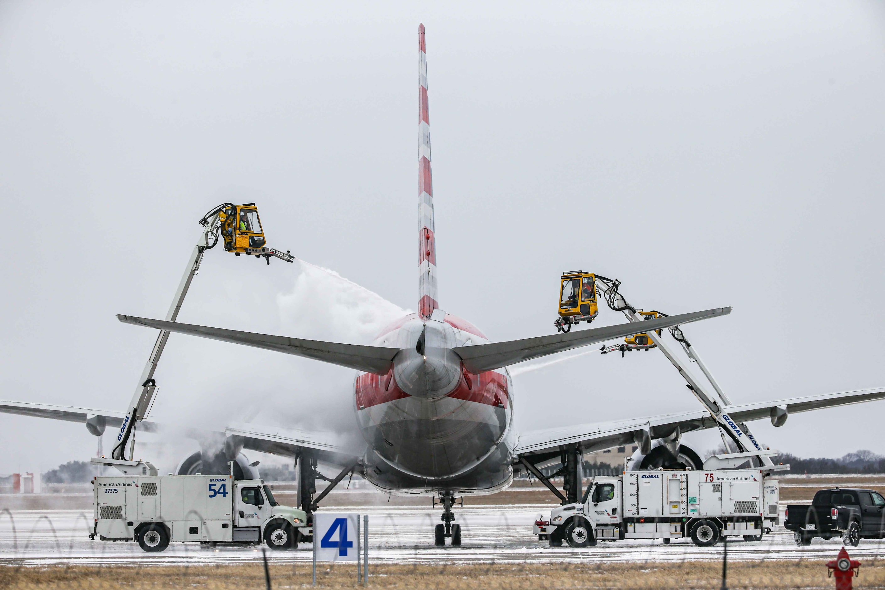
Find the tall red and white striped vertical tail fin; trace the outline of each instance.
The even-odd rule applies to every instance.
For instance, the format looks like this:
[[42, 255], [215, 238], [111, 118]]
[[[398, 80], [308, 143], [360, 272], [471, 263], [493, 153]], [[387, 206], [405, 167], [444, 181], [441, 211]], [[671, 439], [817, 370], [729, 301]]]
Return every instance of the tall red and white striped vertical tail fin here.
[[418, 27], [418, 310], [429, 318], [439, 303], [436, 299], [436, 239], [434, 236], [434, 188], [430, 172], [430, 114], [427, 110], [427, 49], [424, 25]]

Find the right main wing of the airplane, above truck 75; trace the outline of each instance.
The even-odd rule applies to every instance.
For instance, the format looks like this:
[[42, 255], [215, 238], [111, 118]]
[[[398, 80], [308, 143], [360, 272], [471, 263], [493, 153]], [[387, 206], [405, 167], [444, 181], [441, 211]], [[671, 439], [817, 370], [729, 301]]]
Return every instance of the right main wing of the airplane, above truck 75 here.
[[[821, 408], [849, 405], [851, 403], [872, 402], [885, 399], [885, 388], [862, 389], [837, 394], [794, 397], [776, 402], [758, 402], [732, 405], [725, 413], [736, 423], [771, 418], [772, 423], [783, 425], [789, 414]], [[664, 414], [652, 418], [632, 418], [598, 424], [560, 426], [544, 430], [528, 431], [519, 434], [514, 452], [517, 455], [537, 456], [538, 459], [550, 455], [548, 463], [558, 462], [559, 445], [580, 443], [585, 453], [604, 448], [623, 447], [634, 444], [634, 433], [649, 431], [652, 439], [669, 436], [676, 428], [680, 433], [715, 428], [716, 422], [706, 410], [691, 410], [675, 414]], [[540, 464], [539, 466], [543, 466]]]

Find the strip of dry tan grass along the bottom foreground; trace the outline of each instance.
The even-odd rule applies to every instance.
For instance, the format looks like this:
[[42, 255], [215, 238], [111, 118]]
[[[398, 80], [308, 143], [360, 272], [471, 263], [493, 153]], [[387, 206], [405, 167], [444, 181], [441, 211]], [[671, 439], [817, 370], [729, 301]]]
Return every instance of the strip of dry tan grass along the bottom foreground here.
[[[369, 586], [424, 590], [466, 588], [720, 588], [721, 565], [691, 563], [489, 563], [478, 565], [373, 565]], [[311, 586], [309, 565], [272, 565], [273, 588]], [[322, 567], [319, 587], [356, 586], [356, 567]], [[19, 588], [263, 588], [260, 563], [193, 567], [0, 567], [0, 587]], [[885, 564], [861, 567], [858, 588], [885, 587]], [[832, 588], [823, 562], [732, 563], [730, 588]]]

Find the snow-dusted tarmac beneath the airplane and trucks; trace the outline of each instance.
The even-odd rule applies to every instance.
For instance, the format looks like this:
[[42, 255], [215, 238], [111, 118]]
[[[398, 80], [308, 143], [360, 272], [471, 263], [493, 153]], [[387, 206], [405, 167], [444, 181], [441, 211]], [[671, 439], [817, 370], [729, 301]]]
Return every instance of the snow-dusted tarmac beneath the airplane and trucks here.
[[[683, 562], [720, 560], [722, 544], [696, 547], [690, 540], [622, 540], [602, 542], [595, 548], [550, 548], [532, 534], [535, 517], [550, 506], [478, 506], [456, 510], [462, 526], [461, 547], [434, 546], [434, 525], [439, 511], [415, 507], [336, 507], [329, 512], [359, 512], [369, 515], [370, 560], [373, 563], [442, 562]], [[58, 563], [96, 565], [200, 565], [244, 563], [261, 559], [260, 547], [216, 547], [171, 543], [163, 553], [144, 553], [135, 542], [89, 540], [91, 511], [3, 510], [0, 512], [0, 563], [50, 565]], [[740, 538], [732, 538], [740, 539]], [[728, 544], [729, 560], [787, 559], [827, 560], [835, 558], [839, 540], [815, 539], [800, 548], [793, 535], [781, 526], [759, 542], [735, 540]], [[274, 563], [312, 561], [312, 546], [302, 544], [292, 551], [267, 551]], [[885, 541], [861, 540], [851, 556], [866, 564], [885, 558]]]

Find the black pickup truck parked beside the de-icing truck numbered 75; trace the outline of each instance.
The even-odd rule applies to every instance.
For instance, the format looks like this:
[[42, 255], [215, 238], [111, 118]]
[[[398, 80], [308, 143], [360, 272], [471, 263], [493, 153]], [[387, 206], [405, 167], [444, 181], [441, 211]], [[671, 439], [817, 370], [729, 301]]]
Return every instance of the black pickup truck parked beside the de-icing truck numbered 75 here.
[[885, 538], [885, 498], [873, 490], [833, 488], [814, 494], [812, 505], [790, 504], [783, 522], [796, 544], [807, 547], [812, 538], [842, 537], [857, 547], [861, 539]]

